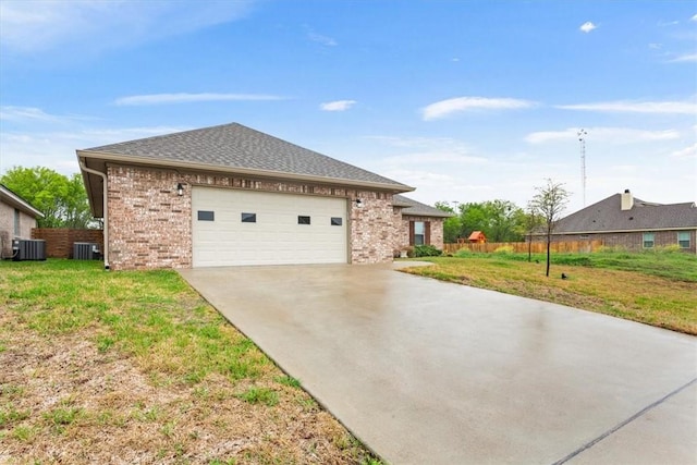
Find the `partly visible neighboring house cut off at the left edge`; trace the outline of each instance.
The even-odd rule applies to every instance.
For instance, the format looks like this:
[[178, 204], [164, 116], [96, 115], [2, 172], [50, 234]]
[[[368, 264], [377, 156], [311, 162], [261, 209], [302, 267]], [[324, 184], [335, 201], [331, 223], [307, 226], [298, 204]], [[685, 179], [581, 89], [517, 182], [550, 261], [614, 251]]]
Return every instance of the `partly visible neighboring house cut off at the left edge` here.
[[44, 213], [0, 184], [0, 257], [12, 257], [13, 238], [32, 238], [32, 229]]

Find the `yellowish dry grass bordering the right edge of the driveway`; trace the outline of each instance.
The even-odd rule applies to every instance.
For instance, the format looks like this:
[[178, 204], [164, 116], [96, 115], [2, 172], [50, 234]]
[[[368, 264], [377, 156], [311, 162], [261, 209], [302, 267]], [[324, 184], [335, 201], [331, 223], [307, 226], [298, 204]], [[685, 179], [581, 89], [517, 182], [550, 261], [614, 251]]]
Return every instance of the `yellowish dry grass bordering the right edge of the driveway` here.
[[[473, 254], [428, 260], [435, 265], [402, 271], [697, 334], [697, 282], [694, 281], [571, 265], [552, 266], [550, 278], [546, 278], [543, 262], [505, 256]], [[681, 258], [681, 266], [683, 260]], [[697, 266], [697, 260], [694, 264]], [[689, 272], [681, 269], [681, 279], [686, 276], [685, 271]], [[562, 280], [562, 272], [568, 279]]]

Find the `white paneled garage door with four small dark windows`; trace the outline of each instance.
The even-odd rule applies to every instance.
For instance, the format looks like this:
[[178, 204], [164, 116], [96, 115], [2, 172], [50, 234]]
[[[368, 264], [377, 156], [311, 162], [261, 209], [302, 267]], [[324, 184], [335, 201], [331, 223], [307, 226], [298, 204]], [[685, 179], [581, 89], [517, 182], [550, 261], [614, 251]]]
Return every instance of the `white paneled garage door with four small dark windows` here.
[[346, 199], [194, 186], [194, 267], [345, 264]]

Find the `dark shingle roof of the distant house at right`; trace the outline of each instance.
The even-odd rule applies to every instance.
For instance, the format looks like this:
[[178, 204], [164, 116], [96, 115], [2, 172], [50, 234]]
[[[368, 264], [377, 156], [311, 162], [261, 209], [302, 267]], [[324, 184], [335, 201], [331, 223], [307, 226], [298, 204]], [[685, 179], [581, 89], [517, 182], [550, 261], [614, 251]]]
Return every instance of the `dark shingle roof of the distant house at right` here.
[[661, 205], [638, 198], [633, 201], [632, 208], [622, 210], [622, 194], [614, 194], [559, 220], [554, 234], [697, 228], [694, 203]]

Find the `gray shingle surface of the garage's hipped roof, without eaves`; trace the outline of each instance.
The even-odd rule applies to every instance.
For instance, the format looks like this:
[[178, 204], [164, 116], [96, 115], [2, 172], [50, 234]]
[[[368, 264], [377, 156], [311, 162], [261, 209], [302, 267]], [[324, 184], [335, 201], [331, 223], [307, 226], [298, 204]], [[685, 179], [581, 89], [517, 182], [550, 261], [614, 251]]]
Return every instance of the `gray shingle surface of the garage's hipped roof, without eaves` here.
[[288, 173], [327, 180], [377, 183], [398, 192], [412, 191], [404, 184], [358, 167], [299, 147], [239, 123], [185, 131], [80, 150], [134, 157], [140, 162], [184, 162], [210, 169], [244, 169], [265, 173]]

